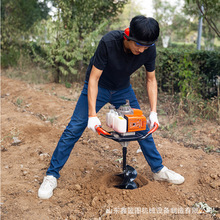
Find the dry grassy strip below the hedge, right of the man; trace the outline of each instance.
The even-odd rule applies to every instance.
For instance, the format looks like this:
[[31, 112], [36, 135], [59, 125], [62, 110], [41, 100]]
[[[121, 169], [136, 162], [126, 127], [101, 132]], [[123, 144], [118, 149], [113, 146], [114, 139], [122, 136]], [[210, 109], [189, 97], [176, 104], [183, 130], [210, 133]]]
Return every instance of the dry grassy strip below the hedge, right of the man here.
[[219, 126], [218, 101], [217, 97], [208, 101], [186, 97], [179, 101], [173, 96], [159, 94], [159, 135], [183, 143], [185, 147], [219, 153], [218, 141], [212, 142], [212, 136], [218, 139], [218, 130], [214, 134], [211, 132], [213, 127]]

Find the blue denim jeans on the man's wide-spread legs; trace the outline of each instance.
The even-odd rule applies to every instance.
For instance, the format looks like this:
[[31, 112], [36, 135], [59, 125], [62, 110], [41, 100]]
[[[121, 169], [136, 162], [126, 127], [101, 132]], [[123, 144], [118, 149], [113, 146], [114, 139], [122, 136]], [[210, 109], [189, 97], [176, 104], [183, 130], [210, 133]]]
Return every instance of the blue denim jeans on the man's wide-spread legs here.
[[[51, 158], [50, 167], [47, 170], [47, 175], [53, 175], [56, 178], [60, 177], [59, 171], [63, 168], [70, 153], [81, 137], [83, 131], [87, 127], [88, 123], [88, 99], [87, 99], [88, 83], [86, 82], [82, 93], [77, 102], [75, 111], [71, 120], [64, 130], [57, 147]], [[116, 109], [126, 103], [126, 99], [130, 101], [132, 108], [140, 109], [135, 93], [131, 85], [122, 90], [111, 91], [104, 88], [98, 89], [98, 96], [96, 100], [96, 112], [98, 112], [106, 103], [113, 104]], [[140, 131], [142, 134], [146, 134], [149, 128], [145, 131]], [[156, 173], [163, 168], [162, 158], [156, 149], [152, 135], [145, 140], [139, 141], [141, 150], [145, 159], [151, 167], [152, 172]]]

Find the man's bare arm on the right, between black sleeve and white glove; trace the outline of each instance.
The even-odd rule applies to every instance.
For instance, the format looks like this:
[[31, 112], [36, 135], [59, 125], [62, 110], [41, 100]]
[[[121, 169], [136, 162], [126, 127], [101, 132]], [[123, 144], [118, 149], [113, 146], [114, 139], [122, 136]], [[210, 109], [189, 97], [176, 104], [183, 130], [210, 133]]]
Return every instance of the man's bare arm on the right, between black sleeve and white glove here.
[[151, 111], [157, 112], [157, 80], [155, 76], [155, 71], [146, 71], [146, 81]]

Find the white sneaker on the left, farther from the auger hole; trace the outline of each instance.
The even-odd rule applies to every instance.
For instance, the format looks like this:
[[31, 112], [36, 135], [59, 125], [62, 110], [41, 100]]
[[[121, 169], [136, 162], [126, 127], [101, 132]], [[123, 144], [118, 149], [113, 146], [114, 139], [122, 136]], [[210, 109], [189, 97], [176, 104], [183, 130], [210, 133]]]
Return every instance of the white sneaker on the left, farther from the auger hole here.
[[57, 178], [54, 176], [45, 176], [43, 183], [38, 190], [38, 197], [49, 199], [53, 195], [53, 190], [57, 187]]

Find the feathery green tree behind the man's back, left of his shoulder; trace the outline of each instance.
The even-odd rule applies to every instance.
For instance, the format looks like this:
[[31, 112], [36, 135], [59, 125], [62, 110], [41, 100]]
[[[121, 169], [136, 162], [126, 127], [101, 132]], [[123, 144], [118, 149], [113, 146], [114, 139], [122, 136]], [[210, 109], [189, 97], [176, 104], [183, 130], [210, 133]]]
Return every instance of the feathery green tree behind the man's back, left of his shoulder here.
[[33, 48], [36, 60], [54, 69], [55, 82], [61, 76], [79, 74], [89, 59], [111, 19], [122, 10], [126, 0], [106, 1], [53, 1], [58, 8], [56, 19], [47, 29], [53, 38], [44, 44], [46, 56], [39, 56]]

